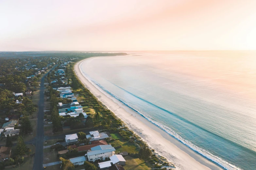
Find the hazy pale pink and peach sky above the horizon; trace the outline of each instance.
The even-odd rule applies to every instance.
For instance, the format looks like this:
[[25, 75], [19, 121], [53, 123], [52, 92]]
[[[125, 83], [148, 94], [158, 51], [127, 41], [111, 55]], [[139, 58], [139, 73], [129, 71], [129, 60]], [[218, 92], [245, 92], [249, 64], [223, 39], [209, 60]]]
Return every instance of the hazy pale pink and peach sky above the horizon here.
[[256, 50], [256, 0], [0, 0], [0, 51]]

